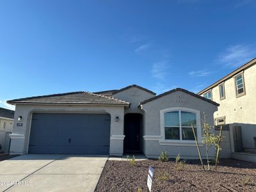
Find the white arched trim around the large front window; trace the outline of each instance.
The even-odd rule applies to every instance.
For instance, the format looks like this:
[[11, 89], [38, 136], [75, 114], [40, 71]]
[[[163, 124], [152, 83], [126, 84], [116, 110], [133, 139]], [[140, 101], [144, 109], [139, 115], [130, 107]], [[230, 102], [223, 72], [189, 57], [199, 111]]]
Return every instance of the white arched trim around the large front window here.
[[[196, 114], [196, 138], [198, 143], [202, 143], [202, 131], [201, 131], [201, 122], [200, 122], [200, 111], [191, 108], [166, 108], [160, 110], [160, 129], [161, 129], [161, 140], [159, 143], [162, 145], [175, 145], [175, 144], [188, 144], [193, 145], [196, 143], [195, 140], [166, 140], [165, 139], [165, 129], [164, 129], [164, 113], [172, 112], [172, 111], [186, 111], [190, 113]], [[180, 132], [180, 135], [182, 133]]]

